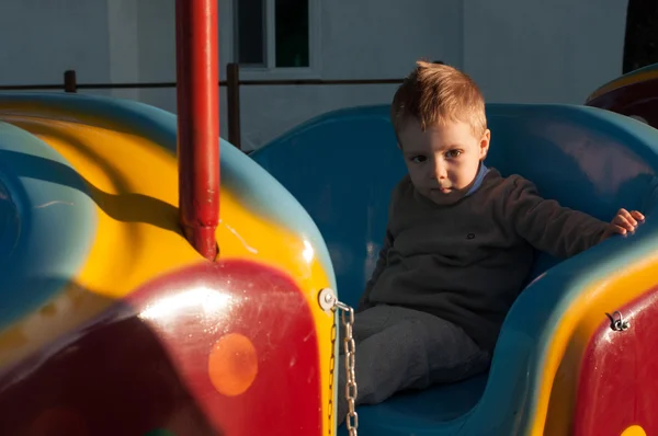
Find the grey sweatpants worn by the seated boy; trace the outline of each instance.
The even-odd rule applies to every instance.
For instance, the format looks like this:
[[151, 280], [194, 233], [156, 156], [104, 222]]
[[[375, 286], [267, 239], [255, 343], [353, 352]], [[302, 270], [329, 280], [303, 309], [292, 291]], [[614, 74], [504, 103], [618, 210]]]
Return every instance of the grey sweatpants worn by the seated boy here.
[[[485, 371], [489, 353], [455, 324], [418, 310], [376, 306], [356, 313], [356, 404], [376, 404], [395, 392], [464, 380]], [[345, 420], [345, 367], [341, 329], [338, 424]]]

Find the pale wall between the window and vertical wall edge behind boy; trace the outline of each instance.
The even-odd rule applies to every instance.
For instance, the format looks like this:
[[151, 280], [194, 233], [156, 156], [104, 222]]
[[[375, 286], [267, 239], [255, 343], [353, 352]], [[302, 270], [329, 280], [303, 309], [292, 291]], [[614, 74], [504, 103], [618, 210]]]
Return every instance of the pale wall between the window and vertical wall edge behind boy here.
[[[322, 79], [402, 78], [420, 57], [461, 62], [461, 0], [320, 3]], [[261, 145], [308, 117], [333, 108], [388, 103], [395, 89], [394, 84], [245, 87], [242, 144]]]

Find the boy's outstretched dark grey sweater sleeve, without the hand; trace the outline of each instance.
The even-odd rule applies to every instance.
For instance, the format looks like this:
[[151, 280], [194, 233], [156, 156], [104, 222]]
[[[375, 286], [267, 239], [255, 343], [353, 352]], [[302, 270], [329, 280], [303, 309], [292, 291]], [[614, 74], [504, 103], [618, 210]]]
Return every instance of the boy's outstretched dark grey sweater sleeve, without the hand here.
[[506, 215], [517, 234], [535, 249], [570, 257], [602, 240], [608, 222], [544, 199], [534, 184], [514, 179], [506, 199]]

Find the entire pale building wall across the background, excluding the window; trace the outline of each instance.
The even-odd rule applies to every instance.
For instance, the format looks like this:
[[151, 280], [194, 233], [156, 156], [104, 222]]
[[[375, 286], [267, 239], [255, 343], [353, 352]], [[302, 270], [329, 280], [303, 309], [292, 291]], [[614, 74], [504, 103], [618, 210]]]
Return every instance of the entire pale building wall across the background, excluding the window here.
[[[220, 76], [231, 60], [219, 1]], [[417, 58], [464, 68], [489, 101], [581, 103], [619, 76], [625, 0], [318, 0], [322, 79], [401, 78]], [[4, 0], [0, 83], [175, 80], [174, 0]], [[329, 110], [387, 103], [395, 85], [243, 87], [243, 147]], [[95, 91], [175, 112], [175, 90]], [[227, 136], [220, 92], [222, 136]]]

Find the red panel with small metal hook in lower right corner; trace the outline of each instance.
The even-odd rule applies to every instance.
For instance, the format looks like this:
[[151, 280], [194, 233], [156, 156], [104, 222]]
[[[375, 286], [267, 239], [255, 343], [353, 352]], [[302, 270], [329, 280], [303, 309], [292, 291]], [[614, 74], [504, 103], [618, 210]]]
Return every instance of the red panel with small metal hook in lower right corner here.
[[574, 436], [620, 436], [631, 425], [658, 434], [658, 289], [611, 310], [631, 322], [626, 331], [601, 323], [585, 353]]

